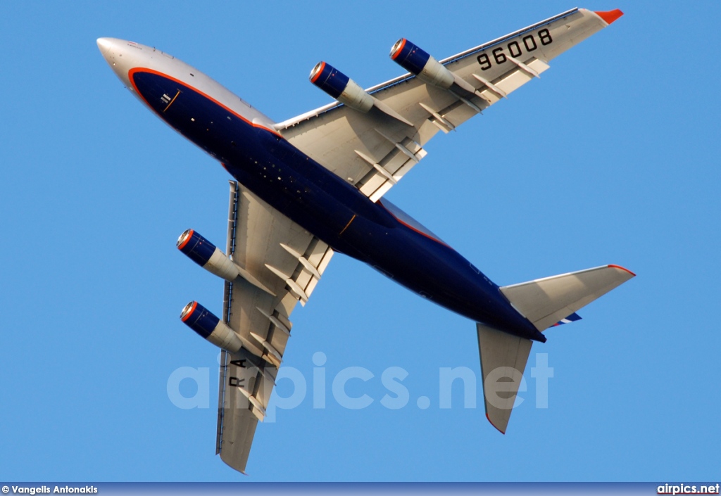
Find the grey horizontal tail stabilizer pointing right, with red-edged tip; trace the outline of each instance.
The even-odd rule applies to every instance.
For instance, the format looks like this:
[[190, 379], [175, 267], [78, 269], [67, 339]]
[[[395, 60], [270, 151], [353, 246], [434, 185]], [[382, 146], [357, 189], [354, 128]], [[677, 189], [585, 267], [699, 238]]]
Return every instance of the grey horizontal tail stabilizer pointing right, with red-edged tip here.
[[543, 331], [634, 275], [619, 265], [603, 265], [503, 286], [500, 291], [513, 308], [533, 322], [536, 329]]

